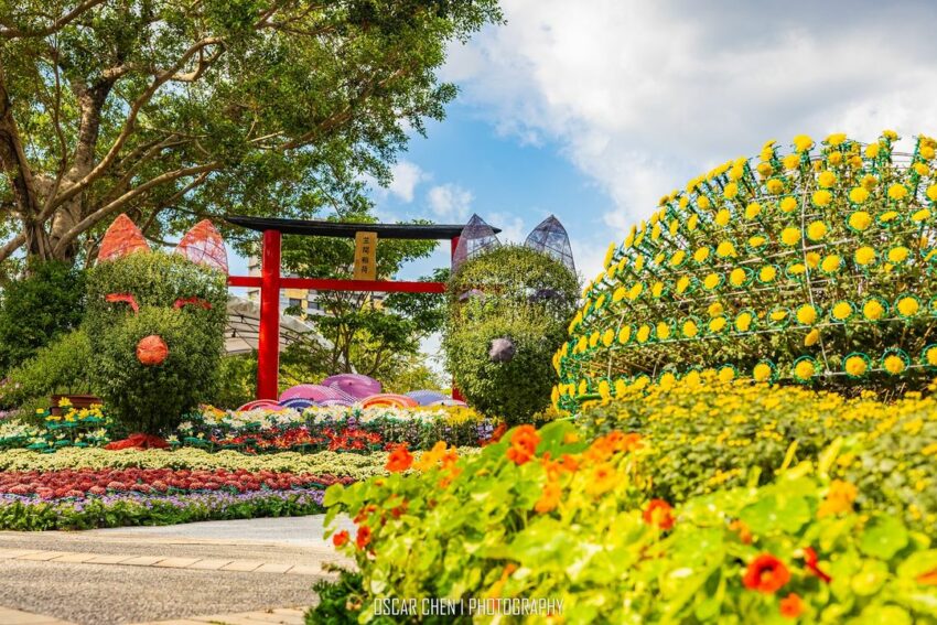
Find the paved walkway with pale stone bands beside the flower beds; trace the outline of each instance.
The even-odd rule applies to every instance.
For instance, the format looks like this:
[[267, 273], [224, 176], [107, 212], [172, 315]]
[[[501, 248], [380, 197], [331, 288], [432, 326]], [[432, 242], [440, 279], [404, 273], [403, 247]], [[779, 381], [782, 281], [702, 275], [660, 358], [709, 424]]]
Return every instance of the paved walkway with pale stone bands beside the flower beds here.
[[0, 532], [0, 623], [299, 624], [343, 562], [322, 519]]

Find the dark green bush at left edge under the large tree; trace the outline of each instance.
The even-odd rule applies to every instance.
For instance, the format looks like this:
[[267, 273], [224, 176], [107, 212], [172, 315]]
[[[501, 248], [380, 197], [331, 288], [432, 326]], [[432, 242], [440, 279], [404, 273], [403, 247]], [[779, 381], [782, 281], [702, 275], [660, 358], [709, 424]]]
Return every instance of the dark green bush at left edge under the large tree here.
[[34, 262], [0, 292], [0, 376], [82, 321], [84, 272], [62, 262]]

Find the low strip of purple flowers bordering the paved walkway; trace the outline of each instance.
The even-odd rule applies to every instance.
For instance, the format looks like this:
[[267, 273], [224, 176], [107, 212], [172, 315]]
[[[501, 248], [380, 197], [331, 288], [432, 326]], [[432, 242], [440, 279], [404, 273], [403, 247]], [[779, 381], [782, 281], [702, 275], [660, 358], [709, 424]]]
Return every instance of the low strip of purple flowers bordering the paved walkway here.
[[0, 529], [90, 529], [313, 515], [323, 510], [322, 496], [319, 488], [236, 494], [218, 491], [174, 495], [120, 493], [51, 502], [0, 495]]

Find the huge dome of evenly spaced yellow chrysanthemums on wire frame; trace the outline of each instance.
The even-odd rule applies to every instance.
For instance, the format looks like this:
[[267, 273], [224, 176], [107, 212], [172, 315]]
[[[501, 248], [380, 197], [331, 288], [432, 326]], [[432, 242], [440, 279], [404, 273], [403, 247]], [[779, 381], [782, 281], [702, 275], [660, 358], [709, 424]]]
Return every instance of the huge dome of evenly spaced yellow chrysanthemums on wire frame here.
[[850, 394], [924, 389], [937, 367], [937, 141], [769, 141], [660, 201], [612, 245], [554, 364], [558, 405], [618, 382], [723, 379]]

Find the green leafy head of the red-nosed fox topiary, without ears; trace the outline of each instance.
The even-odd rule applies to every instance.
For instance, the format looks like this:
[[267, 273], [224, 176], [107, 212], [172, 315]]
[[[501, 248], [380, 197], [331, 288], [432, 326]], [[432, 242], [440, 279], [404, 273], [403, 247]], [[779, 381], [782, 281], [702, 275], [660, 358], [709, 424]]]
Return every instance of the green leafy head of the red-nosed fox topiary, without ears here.
[[[139, 312], [106, 301], [108, 294], [133, 295]], [[211, 308], [174, 306], [190, 298]], [[95, 355], [91, 380], [108, 412], [131, 432], [158, 433], [212, 397], [226, 302], [225, 277], [179, 255], [133, 254], [98, 265], [88, 279], [85, 324]], [[146, 366], [137, 358], [137, 344], [149, 335], [169, 347], [162, 364]]]

